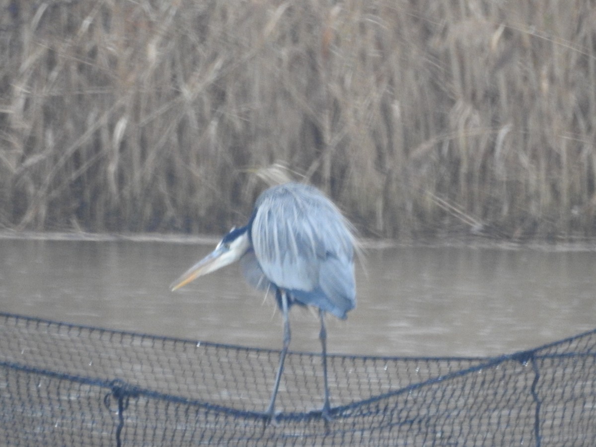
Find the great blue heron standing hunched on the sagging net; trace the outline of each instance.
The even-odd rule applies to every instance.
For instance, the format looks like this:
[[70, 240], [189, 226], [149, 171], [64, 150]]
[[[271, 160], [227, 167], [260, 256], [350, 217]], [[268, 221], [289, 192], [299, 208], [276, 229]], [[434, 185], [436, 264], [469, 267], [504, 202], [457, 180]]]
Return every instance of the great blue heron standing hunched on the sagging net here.
[[275, 291], [283, 316], [284, 336], [271, 402], [265, 411], [268, 421], [274, 417], [275, 397], [290, 344], [288, 311], [294, 304], [319, 309], [325, 385], [321, 415], [331, 419], [325, 312], [344, 319], [356, 306], [354, 247], [350, 225], [325, 195], [308, 185], [287, 183], [260, 194], [249, 223], [232, 229], [212, 253], [171, 286], [176, 290], [201, 275], [240, 260], [250, 284]]

